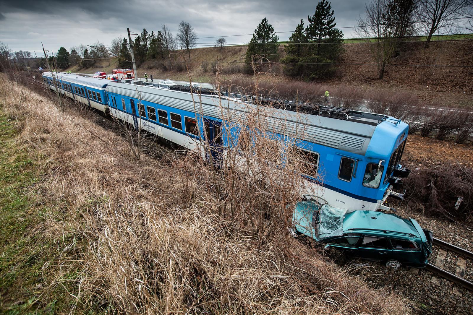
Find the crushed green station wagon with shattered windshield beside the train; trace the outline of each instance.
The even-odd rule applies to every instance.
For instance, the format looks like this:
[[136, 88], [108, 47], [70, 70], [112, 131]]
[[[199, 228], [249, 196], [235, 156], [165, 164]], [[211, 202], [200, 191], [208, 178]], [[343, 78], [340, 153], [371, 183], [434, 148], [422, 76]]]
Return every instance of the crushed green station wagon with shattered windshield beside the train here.
[[432, 232], [420, 228], [414, 219], [378, 211], [349, 211], [308, 199], [297, 203], [293, 225], [299, 233], [327, 244], [326, 248], [394, 269], [429, 263]]

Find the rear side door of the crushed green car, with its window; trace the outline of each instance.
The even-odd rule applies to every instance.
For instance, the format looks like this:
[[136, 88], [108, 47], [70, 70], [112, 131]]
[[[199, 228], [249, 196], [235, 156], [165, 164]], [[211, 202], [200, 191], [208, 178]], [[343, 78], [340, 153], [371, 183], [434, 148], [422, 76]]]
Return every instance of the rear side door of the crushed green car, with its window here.
[[387, 261], [391, 259], [392, 249], [387, 238], [375, 235], [363, 235], [358, 245], [357, 255], [372, 261]]

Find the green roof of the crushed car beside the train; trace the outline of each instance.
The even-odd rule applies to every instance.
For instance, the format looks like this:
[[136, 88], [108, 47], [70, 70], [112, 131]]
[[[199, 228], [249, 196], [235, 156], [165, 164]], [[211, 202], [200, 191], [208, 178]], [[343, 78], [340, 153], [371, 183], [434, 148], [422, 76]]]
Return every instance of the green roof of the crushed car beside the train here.
[[393, 213], [370, 210], [349, 212], [343, 219], [343, 233], [377, 234], [389, 237], [417, 237], [419, 232], [410, 219]]

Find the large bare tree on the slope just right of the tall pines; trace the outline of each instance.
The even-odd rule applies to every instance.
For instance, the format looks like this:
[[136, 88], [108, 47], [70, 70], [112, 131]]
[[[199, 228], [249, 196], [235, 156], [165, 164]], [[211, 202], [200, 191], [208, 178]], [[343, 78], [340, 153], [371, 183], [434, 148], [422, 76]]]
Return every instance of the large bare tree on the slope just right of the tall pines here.
[[414, 9], [414, 0], [373, 0], [366, 4], [365, 16], [359, 17], [356, 33], [365, 38], [379, 79], [383, 79], [403, 37], [416, 33]]

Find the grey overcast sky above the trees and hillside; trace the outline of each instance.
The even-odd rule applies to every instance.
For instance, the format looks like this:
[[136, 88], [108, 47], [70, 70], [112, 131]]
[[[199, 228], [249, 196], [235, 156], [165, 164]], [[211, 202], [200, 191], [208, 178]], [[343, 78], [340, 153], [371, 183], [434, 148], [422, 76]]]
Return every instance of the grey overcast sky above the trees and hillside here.
[[[64, 46], [93, 44], [109, 46], [115, 37], [125, 37], [126, 28], [155, 33], [162, 24], [173, 34], [182, 20], [189, 22], [198, 37], [252, 34], [267, 17], [276, 32], [293, 31], [300, 19], [314, 14], [318, 0], [0, 0], [0, 41], [13, 51], [42, 54]], [[363, 13], [365, 0], [332, 0], [337, 27], [354, 26]], [[352, 28], [343, 29], [354, 37]], [[278, 34], [285, 40], [290, 33]], [[247, 43], [251, 35], [226, 37], [227, 43]], [[213, 43], [201, 38], [198, 43]], [[33, 53], [34, 55], [34, 53]]]

